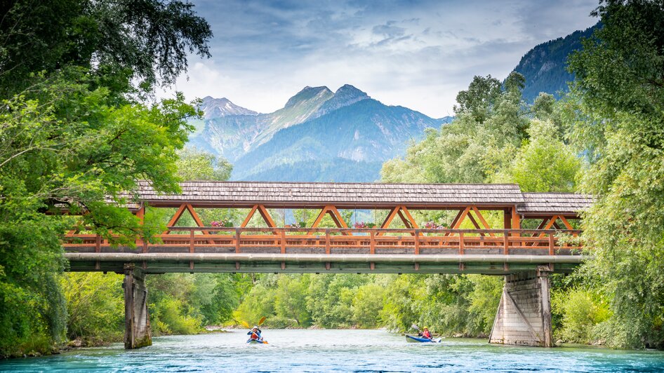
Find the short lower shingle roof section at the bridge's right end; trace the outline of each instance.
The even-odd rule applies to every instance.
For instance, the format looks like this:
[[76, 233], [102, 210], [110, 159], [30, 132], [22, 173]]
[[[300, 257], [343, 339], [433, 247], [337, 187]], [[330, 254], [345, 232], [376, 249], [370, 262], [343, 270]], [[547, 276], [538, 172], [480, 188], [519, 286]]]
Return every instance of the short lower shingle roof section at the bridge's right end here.
[[523, 194], [524, 204], [517, 205], [517, 212], [524, 215], [575, 214], [590, 207], [592, 197], [575, 193]]

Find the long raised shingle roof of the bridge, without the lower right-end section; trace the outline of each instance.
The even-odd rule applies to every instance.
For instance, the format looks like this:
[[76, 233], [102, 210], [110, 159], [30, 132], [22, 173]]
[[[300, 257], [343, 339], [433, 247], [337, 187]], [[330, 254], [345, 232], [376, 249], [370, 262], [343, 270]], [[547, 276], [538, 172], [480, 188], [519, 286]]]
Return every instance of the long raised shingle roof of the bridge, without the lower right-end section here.
[[267, 207], [336, 205], [338, 208], [408, 204], [420, 207], [453, 205], [515, 205], [524, 203], [516, 184], [377, 184], [319, 182], [182, 182], [182, 194], [158, 194], [140, 182], [138, 199], [151, 205]]

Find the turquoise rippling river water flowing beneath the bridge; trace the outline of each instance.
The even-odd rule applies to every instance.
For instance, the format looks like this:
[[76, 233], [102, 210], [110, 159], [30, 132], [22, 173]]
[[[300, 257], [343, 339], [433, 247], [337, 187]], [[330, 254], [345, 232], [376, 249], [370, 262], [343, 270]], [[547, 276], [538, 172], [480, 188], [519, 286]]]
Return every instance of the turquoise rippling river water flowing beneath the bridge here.
[[486, 340], [409, 344], [382, 330], [263, 330], [247, 345], [240, 330], [157, 337], [153, 346], [81, 348], [0, 361], [0, 372], [662, 372], [664, 352], [492, 346]]

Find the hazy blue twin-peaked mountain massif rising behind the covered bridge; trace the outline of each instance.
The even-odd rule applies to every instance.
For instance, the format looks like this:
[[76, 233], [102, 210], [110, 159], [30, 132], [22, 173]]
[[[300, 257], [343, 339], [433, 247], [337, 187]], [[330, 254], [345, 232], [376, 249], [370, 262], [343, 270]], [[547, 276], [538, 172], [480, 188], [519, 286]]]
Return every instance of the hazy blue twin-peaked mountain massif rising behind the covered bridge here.
[[270, 114], [227, 114], [221, 100], [201, 108], [206, 116], [190, 143], [227, 158], [241, 180], [372, 182], [426, 128], [451, 120], [387, 106], [348, 84], [334, 93], [307, 86]]

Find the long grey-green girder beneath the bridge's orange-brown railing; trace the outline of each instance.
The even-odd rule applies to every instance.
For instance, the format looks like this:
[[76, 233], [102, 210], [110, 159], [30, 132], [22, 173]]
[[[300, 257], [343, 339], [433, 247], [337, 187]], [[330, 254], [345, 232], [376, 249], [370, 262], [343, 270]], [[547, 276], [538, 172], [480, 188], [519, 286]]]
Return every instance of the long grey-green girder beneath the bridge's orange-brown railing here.
[[506, 275], [550, 265], [568, 273], [583, 258], [578, 255], [289, 255], [188, 254], [129, 252], [65, 254], [70, 271], [122, 273], [133, 263], [144, 273], [482, 273]]

